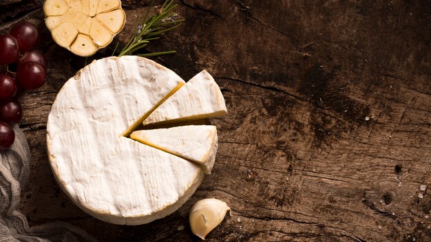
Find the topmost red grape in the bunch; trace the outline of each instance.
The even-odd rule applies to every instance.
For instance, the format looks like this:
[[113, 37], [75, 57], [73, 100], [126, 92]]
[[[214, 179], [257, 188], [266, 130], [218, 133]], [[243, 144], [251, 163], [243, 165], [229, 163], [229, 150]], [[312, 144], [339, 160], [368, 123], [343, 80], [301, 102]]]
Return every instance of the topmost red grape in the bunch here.
[[32, 23], [26, 21], [15, 24], [12, 30], [10, 30], [10, 34], [17, 38], [21, 52], [32, 50], [39, 40], [39, 31], [37, 31], [37, 28]]

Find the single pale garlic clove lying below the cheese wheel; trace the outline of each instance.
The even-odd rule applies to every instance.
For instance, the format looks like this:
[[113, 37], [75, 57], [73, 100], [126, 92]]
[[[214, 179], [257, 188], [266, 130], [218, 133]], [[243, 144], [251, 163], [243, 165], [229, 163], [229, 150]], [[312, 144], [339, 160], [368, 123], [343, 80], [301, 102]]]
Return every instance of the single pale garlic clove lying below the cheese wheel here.
[[215, 198], [198, 201], [189, 214], [191, 232], [200, 239], [205, 239], [205, 236], [223, 221], [228, 210], [231, 208], [227, 206], [227, 203]]

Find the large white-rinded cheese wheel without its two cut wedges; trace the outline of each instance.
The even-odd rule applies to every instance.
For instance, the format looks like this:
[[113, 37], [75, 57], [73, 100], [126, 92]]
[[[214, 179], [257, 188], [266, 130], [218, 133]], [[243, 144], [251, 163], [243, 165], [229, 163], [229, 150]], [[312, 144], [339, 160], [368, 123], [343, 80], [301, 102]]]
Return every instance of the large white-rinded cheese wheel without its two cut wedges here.
[[184, 85], [145, 58], [94, 61], [67, 80], [47, 124], [50, 166], [76, 206], [109, 223], [138, 225], [178, 209], [202, 169], [124, 135]]

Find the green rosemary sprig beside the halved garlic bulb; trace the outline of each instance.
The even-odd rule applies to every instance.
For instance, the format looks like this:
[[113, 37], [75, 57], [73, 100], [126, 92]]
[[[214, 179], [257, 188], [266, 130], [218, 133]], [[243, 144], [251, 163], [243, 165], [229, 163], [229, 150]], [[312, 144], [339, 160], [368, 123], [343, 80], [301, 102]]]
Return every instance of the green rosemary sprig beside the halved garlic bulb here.
[[[154, 6], [154, 1], [151, 2], [151, 7]], [[132, 55], [138, 50], [143, 49], [149, 41], [159, 39], [158, 35], [168, 32], [170, 30], [174, 30], [178, 26], [181, 25], [181, 22], [184, 21], [184, 19], [176, 19], [178, 14], [176, 12], [172, 12], [176, 8], [176, 4], [173, 4], [174, 0], [166, 0], [165, 3], [163, 3], [162, 7], [154, 14], [147, 19], [147, 16], [149, 14], [149, 9], [145, 12], [145, 17], [143, 19], [142, 24], [136, 24], [135, 34], [132, 36], [132, 39], [130, 39], [129, 43], [125, 45], [123, 50], [121, 50], [118, 54], [118, 56], [126, 56], [126, 55]], [[138, 21], [139, 23], [139, 21]], [[118, 43], [114, 49], [114, 53], [116, 52], [116, 49], [118, 47]], [[114, 53], [112, 55], [114, 55]], [[155, 52], [155, 53], [147, 53], [147, 54], [135, 54], [136, 56], [158, 56], [161, 54], [172, 54], [175, 53], [174, 50], [167, 51], [167, 52]]]

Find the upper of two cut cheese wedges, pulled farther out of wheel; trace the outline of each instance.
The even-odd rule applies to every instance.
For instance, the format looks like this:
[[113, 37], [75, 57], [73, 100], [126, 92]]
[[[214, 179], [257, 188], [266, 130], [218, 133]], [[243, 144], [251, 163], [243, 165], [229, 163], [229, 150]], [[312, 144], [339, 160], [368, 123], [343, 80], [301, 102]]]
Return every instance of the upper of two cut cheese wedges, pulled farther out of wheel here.
[[202, 71], [154, 110], [143, 124], [215, 118], [226, 114], [220, 87], [208, 72]]

